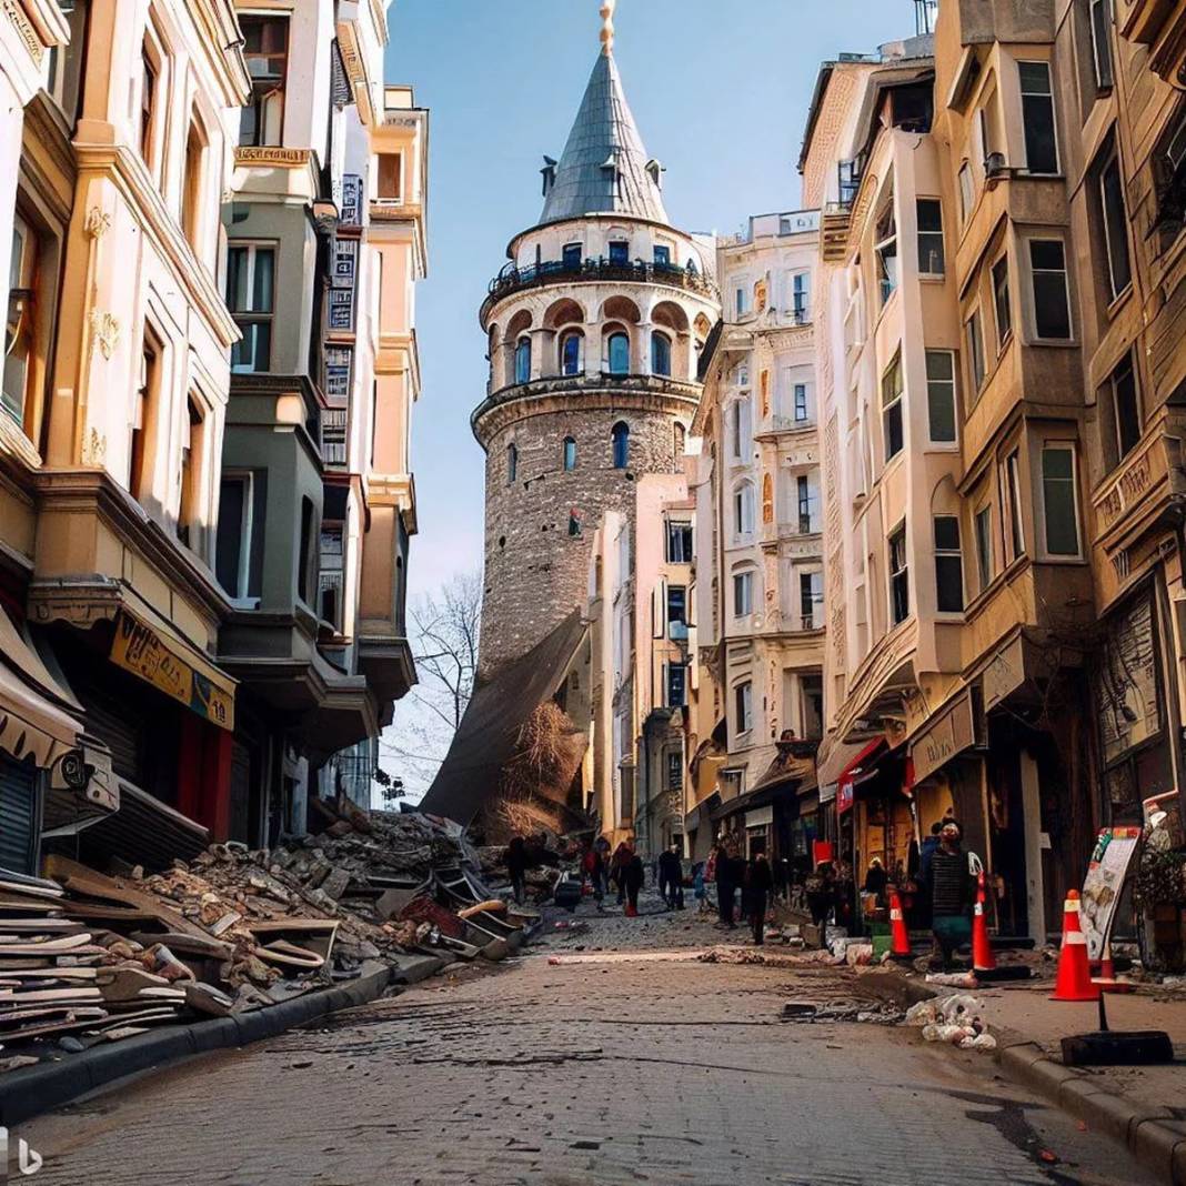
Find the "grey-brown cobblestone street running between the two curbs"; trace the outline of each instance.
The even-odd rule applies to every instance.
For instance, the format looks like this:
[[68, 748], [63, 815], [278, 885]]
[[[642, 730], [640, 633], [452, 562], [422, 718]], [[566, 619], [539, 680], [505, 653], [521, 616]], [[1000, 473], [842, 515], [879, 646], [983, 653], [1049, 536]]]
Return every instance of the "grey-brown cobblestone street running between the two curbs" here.
[[[1152, 1181], [995, 1078], [984, 1056], [912, 1029], [779, 1020], [790, 999], [843, 990], [834, 970], [696, 962], [680, 949], [720, 935], [690, 911], [591, 908], [587, 929], [553, 930], [497, 971], [431, 981], [27, 1126], [45, 1156], [38, 1181]], [[578, 946], [619, 958], [549, 964]]]

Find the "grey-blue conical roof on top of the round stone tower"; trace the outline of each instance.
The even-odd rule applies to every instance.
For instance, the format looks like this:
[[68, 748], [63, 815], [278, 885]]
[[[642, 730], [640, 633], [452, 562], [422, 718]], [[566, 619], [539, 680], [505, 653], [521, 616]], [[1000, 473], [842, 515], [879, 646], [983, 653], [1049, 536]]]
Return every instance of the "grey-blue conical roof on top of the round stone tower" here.
[[[665, 223], [663, 196], [612, 53], [598, 56], [576, 122], [543, 203], [541, 223], [591, 213], [635, 215]], [[657, 172], [657, 168], [656, 168]]]

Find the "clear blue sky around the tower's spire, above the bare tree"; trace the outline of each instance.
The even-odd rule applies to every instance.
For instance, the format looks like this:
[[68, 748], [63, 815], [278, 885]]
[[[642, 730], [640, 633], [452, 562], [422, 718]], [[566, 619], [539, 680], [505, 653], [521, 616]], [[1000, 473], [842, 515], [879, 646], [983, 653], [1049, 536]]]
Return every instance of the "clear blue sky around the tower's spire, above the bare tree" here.
[[[540, 215], [598, 53], [599, 0], [396, 0], [387, 78], [432, 113], [429, 276], [417, 289], [423, 393], [412, 592], [482, 563], [478, 306], [511, 236]], [[686, 230], [729, 234], [793, 210], [821, 60], [914, 32], [912, 0], [619, 0], [614, 46], [664, 199]]]

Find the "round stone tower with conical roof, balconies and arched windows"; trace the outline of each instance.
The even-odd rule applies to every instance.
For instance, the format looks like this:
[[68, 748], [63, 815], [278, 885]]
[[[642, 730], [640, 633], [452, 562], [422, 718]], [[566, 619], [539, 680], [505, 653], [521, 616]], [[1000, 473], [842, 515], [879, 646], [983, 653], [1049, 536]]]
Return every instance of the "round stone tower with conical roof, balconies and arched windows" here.
[[668, 221], [607, 31], [563, 154], [544, 158], [540, 222], [482, 306], [487, 676], [585, 604], [601, 515], [632, 519], [637, 478], [681, 468], [719, 315], [713, 243]]

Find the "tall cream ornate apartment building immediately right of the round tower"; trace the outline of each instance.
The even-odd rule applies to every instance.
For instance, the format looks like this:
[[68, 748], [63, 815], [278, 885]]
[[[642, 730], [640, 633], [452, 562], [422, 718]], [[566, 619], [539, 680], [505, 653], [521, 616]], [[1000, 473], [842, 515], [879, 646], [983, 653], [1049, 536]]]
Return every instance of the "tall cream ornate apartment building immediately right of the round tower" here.
[[707, 799], [703, 809], [699, 793], [687, 804], [696, 812], [689, 833], [702, 839], [707, 814], [718, 830], [737, 831], [742, 848], [761, 844], [786, 857], [810, 849], [820, 823], [818, 231], [818, 211], [792, 211], [751, 218], [744, 234], [720, 241], [725, 318], [702, 356], [704, 393], [693, 425], [703, 670], [689, 774]]

